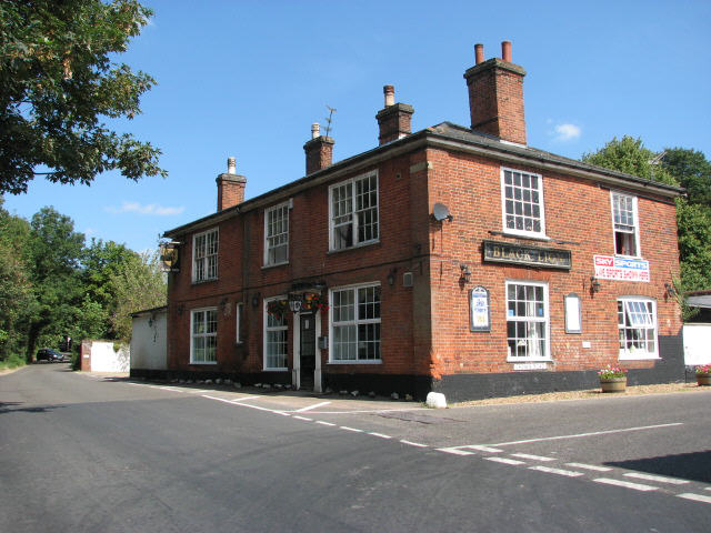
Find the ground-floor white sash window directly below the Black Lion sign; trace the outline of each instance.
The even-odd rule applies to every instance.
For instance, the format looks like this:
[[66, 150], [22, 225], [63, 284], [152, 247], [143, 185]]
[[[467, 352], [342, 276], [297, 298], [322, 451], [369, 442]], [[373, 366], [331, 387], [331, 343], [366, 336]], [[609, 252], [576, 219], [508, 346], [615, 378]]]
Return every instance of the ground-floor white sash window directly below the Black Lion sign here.
[[550, 359], [548, 331], [548, 284], [507, 282], [508, 359]]

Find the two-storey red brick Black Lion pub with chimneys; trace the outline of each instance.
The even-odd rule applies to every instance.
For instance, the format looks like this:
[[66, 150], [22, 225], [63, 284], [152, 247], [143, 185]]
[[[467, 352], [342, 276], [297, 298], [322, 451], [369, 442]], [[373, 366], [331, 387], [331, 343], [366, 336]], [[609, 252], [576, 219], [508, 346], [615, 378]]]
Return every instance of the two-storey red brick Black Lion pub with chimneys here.
[[[467, 70], [471, 127], [411, 132], [384, 88], [379, 145], [167, 231], [168, 373], [451, 400], [683, 379], [681, 190], [527, 145], [525, 71]], [[141, 374], [141, 369], [133, 370]], [[149, 373], [146, 371], [144, 373]]]

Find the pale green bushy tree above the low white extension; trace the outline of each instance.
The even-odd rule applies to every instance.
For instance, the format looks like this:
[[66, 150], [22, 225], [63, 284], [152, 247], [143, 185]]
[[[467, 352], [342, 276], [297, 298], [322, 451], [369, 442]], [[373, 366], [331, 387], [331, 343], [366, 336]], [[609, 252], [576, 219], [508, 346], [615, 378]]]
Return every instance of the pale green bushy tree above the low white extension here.
[[117, 295], [111, 323], [123, 341], [131, 339], [131, 313], [166, 305], [168, 285], [156, 253], [136, 254], [111, 276], [110, 285]]

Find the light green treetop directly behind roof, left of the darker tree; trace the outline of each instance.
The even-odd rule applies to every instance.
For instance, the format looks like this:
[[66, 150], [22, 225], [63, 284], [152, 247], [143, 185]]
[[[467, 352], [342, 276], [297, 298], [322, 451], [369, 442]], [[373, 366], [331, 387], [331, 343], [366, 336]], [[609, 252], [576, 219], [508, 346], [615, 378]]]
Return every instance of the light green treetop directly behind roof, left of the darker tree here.
[[659, 164], [658, 155], [644, 148], [641, 139], [624, 135], [621, 140], [617, 137], [612, 138], [597, 152], [583, 154], [582, 160], [585, 163], [619, 170], [638, 178], [678, 185], [677, 179]]

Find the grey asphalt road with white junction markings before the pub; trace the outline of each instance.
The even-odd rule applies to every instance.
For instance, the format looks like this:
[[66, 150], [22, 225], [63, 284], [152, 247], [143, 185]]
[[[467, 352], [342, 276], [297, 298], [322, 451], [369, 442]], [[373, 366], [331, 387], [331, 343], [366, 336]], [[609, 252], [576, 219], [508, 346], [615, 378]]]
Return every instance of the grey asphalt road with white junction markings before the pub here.
[[711, 391], [425, 410], [0, 375], [0, 532], [708, 532]]

